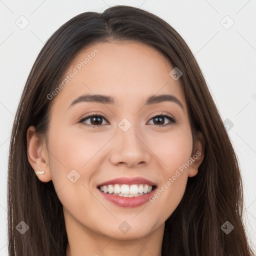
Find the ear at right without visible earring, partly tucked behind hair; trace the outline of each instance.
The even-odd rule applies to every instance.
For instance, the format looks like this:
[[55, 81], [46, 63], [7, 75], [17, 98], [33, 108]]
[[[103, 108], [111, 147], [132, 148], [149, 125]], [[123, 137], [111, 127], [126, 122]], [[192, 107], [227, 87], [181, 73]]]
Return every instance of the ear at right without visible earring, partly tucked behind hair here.
[[191, 164], [188, 169], [188, 176], [193, 177], [198, 172], [198, 167], [200, 166], [203, 156], [204, 156], [204, 145], [205, 139], [201, 131], [198, 131], [199, 138], [194, 141], [192, 153], [190, 156]]

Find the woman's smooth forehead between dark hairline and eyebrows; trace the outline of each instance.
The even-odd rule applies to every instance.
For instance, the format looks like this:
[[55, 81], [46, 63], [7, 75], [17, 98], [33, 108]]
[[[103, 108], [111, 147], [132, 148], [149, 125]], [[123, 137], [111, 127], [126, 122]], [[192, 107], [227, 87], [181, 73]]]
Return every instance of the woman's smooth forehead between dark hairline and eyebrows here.
[[[172, 94], [185, 106], [183, 90], [169, 72], [166, 57], [140, 42], [98, 42], [83, 48], [72, 59], [60, 83], [59, 104], [70, 104], [82, 94], [105, 94], [116, 105], [144, 102], [155, 94]], [[67, 78], [68, 76], [68, 78]]]

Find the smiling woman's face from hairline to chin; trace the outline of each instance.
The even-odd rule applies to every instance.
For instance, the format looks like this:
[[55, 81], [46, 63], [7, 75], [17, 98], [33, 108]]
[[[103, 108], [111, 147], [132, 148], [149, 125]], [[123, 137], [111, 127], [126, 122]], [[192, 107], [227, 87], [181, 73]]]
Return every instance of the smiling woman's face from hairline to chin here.
[[[70, 79], [51, 93], [47, 151], [38, 160], [45, 170], [38, 178], [52, 180], [67, 228], [72, 223], [118, 239], [143, 237], [163, 227], [179, 204], [188, 176], [197, 173], [200, 156], [190, 157], [200, 144], [192, 144], [172, 69], [154, 48], [128, 41], [93, 44], [70, 63]], [[96, 94], [114, 102], [84, 96]], [[161, 95], [168, 100], [148, 100]]]

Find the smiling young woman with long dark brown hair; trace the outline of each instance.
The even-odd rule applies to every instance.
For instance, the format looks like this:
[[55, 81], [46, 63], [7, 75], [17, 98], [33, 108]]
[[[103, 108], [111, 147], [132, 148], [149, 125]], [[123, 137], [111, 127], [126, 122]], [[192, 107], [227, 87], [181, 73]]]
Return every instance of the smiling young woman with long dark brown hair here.
[[13, 124], [8, 205], [10, 255], [252, 254], [200, 68], [135, 7], [81, 13], [43, 46]]

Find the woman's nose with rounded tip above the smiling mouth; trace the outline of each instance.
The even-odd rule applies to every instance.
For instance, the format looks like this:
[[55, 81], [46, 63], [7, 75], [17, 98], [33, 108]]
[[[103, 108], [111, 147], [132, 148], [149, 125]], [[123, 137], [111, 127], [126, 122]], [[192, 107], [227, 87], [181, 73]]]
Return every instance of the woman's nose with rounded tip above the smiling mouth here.
[[133, 125], [127, 131], [121, 129], [117, 131], [113, 144], [115, 149], [110, 156], [112, 164], [136, 167], [150, 162], [151, 150], [146, 145], [145, 136], [140, 133], [133, 128]]

